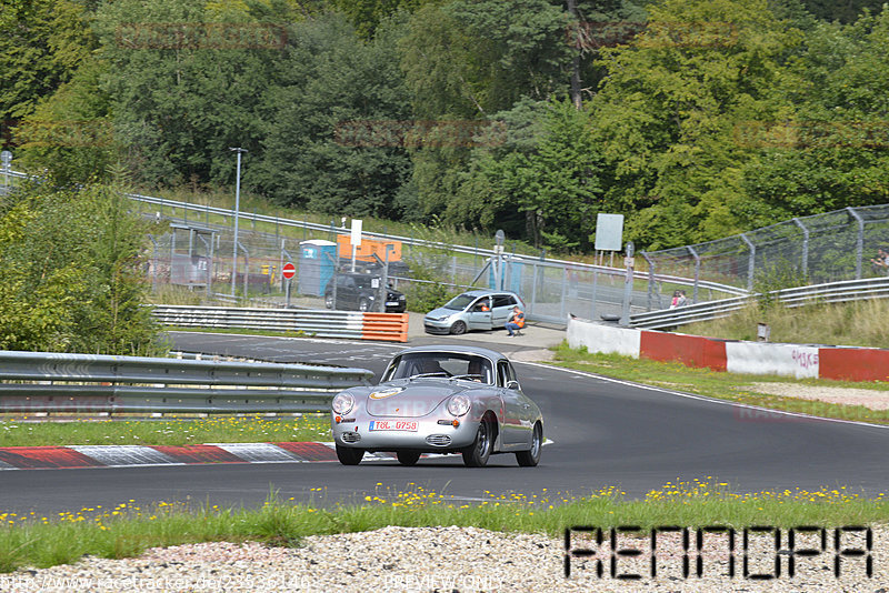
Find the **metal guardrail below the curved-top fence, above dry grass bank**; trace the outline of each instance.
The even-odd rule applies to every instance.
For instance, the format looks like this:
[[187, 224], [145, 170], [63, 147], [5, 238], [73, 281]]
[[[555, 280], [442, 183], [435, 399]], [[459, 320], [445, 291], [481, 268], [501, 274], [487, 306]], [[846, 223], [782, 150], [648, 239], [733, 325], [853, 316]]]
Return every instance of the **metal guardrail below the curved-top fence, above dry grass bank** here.
[[[783, 289], [769, 293], [772, 299], [788, 308], [818, 303], [845, 303], [868, 299], [889, 298], [889, 278], [866, 280], [845, 280], [809, 287]], [[639, 329], [658, 330], [675, 328], [696, 321], [712, 321], [730, 315], [760, 298], [760, 294], [736, 296], [721, 301], [690, 304], [677, 309], [649, 311], [630, 315], [630, 325]]]

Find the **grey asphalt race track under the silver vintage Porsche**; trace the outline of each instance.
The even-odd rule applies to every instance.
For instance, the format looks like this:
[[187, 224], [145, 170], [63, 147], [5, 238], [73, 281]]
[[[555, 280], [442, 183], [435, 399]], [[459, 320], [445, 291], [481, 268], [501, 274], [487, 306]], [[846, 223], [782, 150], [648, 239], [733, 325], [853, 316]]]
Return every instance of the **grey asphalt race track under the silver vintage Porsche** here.
[[[465, 336], [463, 336], [465, 338]], [[220, 334], [174, 334], [178, 349], [361, 366], [379, 375], [399, 346]], [[448, 338], [429, 338], [434, 343]], [[459, 340], [471, 343], [469, 340]], [[410, 483], [456, 500], [493, 493], [583, 495], [615, 485], [630, 497], [667, 482], [728, 482], [737, 492], [847, 486], [848, 493], [889, 492], [889, 429], [830, 422], [683, 396], [598, 376], [517, 363], [522, 389], [538, 402], [546, 435], [538, 468], [512, 454], [468, 469], [459, 456], [397, 462], [270, 463], [102, 468], [0, 472], [0, 510], [52, 513], [116, 505], [133, 499], [197, 504], [257, 505], [274, 490], [283, 499], [334, 504], [361, 501], [378, 483]], [[63, 443], [59, 443], [63, 444]], [[713, 481], [711, 480], [711, 481]], [[312, 489], [327, 486], [319, 494]]]

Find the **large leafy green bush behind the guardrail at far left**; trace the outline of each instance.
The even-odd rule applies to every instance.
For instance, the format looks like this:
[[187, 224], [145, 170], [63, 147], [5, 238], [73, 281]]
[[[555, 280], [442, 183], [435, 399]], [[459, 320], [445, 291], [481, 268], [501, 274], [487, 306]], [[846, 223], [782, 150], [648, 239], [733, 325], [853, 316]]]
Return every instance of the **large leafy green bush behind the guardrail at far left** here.
[[157, 354], [143, 306], [146, 229], [112, 185], [0, 200], [0, 349]]

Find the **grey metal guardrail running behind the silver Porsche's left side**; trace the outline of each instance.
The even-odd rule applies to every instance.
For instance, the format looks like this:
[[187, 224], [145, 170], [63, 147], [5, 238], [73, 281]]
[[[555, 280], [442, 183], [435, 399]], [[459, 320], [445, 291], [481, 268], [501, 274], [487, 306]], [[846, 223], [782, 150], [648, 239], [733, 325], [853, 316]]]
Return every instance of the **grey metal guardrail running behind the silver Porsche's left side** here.
[[324, 412], [367, 369], [0, 351], [0, 412]]

